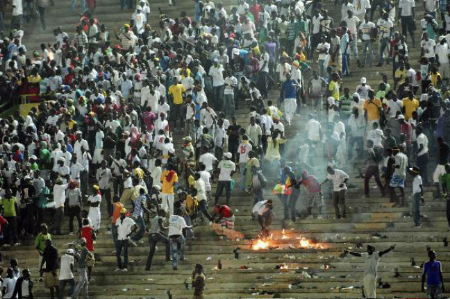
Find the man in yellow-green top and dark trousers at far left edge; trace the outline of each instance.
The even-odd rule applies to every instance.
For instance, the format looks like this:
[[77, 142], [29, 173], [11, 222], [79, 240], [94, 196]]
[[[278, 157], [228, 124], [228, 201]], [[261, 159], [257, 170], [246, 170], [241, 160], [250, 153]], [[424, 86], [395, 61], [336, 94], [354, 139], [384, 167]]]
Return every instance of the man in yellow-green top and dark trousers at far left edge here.
[[17, 237], [17, 216], [19, 216], [19, 205], [17, 205], [17, 198], [12, 196], [11, 189], [5, 190], [5, 197], [1, 198], [0, 205], [3, 217], [8, 221], [9, 225], [5, 229], [5, 244], [9, 246], [20, 245]]

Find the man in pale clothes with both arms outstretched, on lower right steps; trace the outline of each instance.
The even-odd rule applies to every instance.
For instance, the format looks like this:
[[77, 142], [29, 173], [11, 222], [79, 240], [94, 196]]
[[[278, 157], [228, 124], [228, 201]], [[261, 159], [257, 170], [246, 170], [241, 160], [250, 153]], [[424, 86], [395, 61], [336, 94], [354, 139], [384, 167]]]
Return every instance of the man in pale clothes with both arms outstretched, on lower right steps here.
[[395, 245], [392, 245], [390, 246], [390, 248], [378, 252], [375, 251], [374, 246], [367, 245], [367, 253], [356, 253], [349, 250], [344, 250], [345, 255], [350, 253], [355, 257], [363, 257], [364, 259], [363, 286], [365, 298], [376, 298], [376, 270], [378, 268], [378, 261], [380, 257], [385, 255], [386, 253], [389, 253], [391, 250], [394, 250], [394, 248]]

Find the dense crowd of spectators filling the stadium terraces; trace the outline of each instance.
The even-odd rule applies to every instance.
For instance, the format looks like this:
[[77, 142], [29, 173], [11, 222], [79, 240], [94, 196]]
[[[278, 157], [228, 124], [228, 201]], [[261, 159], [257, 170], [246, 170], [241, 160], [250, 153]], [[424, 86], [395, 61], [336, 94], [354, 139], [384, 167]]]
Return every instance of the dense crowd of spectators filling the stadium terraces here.
[[[321, 1], [239, 0], [227, 11], [196, 0], [192, 17], [160, 11], [156, 27], [147, 0], [135, 10], [121, 1], [133, 14], [113, 31], [92, 14], [95, 1], [81, 0], [88, 10], [75, 32], [58, 27], [53, 43], [33, 53], [22, 44], [21, 24], [29, 21], [22, 0], [0, 3], [1, 16], [7, 4], [13, 8], [10, 35], [1, 40], [1, 101], [35, 103], [0, 120], [3, 246], [35, 238], [39, 280], [51, 298], [64, 298], [67, 285], [72, 298], [81, 291], [88, 298], [101, 259], [98, 234], [113, 238], [115, 271], [128, 271], [129, 247], [146, 246], [145, 234], [145, 270], [158, 243], [177, 270], [186, 240], [196, 239], [194, 225], [218, 224], [220, 238], [229, 237], [233, 193], [252, 194], [249, 216], [267, 237], [276, 217], [265, 196], [272, 182], [286, 223], [325, 217], [331, 200], [336, 221], [351, 218], [349, 173], [364, 178], [365, 198], [373, 176], [381, 196], [401, 207], [409, 174], [417, 228], [423, 187], [433, 184], [435, 198], [450, 200], [450, 6], [442, 1], [424, 1], [416, 44], [413, 0], [345, 0], [339, 19]], [[51, 3], [35, 4], [45, 30]], [[392, 74], [371, 87], [353, 71], [374, 69], [374, 60], [392, 65]], [[357, 86], [344, 84], [347, 76]], [[450, 205], [447, 219], [450, 227]], [[74, 246], [56, 248], [52, 237], [61, 234], [76, 236]], [[365, 275], [366, 298], [376, 296], [378, 258], [392, 249], [351, 253], [375, 267]], [[440, 264], [433, 253], [430, 259], [428, 292], [440, 298]], [[17, 264], [6, 271], [3, 298], [32, 298], [31, 272], [21, 276]], [[203, 298], [201, 264], [192, 287]]]

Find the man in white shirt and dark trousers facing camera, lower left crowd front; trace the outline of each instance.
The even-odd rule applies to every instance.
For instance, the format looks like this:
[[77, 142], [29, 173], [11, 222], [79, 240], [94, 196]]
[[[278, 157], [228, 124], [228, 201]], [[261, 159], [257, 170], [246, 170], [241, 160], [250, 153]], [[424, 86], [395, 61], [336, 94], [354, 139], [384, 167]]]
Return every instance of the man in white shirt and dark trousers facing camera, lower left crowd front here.
[[[114, 271], [128, 271], [128, 246], [131, 243], [130, 235], [138, 229], [138, 225], [126, 216], [126, 209], [120, 210], [120, 217], [117, 219], [117, 268]], [[122, 250], [124, 251], [124, 262], [122, 263]]]

